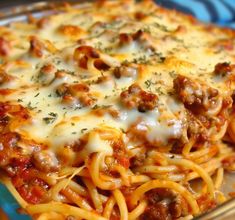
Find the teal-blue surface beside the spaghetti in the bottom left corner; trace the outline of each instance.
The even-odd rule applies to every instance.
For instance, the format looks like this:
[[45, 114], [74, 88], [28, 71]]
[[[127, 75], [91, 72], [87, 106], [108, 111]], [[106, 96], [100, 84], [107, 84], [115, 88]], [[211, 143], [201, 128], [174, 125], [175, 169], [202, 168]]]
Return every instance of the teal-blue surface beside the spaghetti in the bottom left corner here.
[[28, 216], [16, 212], [19, 205], [14, 197], [8, 192], [7, 188], [2, 184], [0, 184], [0, 207], [7, 214], [9, 220], [30, 220]]

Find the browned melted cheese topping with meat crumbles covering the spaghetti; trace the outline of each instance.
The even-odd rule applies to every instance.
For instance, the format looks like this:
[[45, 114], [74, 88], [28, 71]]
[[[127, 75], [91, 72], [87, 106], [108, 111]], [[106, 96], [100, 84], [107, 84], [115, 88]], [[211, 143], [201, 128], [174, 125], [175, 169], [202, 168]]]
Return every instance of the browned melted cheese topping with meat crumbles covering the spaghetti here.
[[[104, 173], [115, 177], [110, 163], [122, 167], [121, 180], [98, 185], [102, 190], [131, 186], [132, 174], [149, 173], [149, 164], [164, 166], [159, 155], [147, 160], [153, 152], [197, 164], [214, 157], [210, 176], [219, 167], [232, 169], [232, 150], [225, 163], [215, 146], [235, 141], [233, 30], [151, 1], [66, 4], [55, 11], [0, 27], [0, 167], [25, 207], [71, 203], [68, 193], [48, 199], [48, 192], [67, 167], [84, 166], [81, 175], [89, 179], [89, 161], [97, 153], [109, 158]], [[204, 150], [208, 158], [187, 156], [190, 149]], [[26, 168], [37, 173], [30, 181]], [[174, 169], [169, 172], [183, 172]], [[191, 179], [200, 176], [195, 172]], [[150, 172], [148, 178], [163, 177]], [[201, 212], [210, 208], [198, 205]]]

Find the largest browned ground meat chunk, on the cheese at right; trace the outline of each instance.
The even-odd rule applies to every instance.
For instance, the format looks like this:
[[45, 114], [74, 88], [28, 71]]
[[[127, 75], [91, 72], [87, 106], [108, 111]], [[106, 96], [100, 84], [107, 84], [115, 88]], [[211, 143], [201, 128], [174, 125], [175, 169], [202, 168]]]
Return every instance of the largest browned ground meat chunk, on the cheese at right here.
[[189, 77], [178, 75], [174, 79], [174, 89], [179, 99], [186, 105], [196, 105], [209, 109], [218, 99], [218, 90]]

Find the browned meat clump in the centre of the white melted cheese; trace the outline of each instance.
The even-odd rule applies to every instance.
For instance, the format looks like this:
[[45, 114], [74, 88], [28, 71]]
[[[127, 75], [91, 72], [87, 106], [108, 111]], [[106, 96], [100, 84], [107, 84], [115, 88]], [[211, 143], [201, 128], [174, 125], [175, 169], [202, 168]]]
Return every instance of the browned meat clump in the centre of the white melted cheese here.
[[137, 108], [140, 112], [153, 110], [157, 105], [157, 95], [146, 92], [138, 84], [132, 84], [120, 94], [122, 104], [128, 108]]

